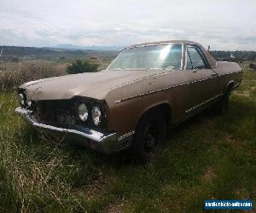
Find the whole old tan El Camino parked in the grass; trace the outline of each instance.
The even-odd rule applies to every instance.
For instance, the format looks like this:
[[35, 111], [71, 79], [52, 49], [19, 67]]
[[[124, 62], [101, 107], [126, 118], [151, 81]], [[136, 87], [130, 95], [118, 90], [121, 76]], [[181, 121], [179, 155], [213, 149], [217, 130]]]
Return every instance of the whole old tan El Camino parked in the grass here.
[[20, 85], [15, 111], [53, 135], [102, 153], [131, 148], [146, 162], [168, 127], [207, 107], [223, 113], [241, 74], [238, 64], [216, 62], [199, 43], [142, 43], [121, 51], [102, 72]]

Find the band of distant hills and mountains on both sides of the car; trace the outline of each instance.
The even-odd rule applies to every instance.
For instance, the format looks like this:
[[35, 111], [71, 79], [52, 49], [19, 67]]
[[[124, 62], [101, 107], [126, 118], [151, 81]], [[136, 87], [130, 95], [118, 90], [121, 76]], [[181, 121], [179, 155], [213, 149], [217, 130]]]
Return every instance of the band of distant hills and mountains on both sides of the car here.
[[[20, 47], [20, 46], [1, 46], [0, 45], [0, 60], [8, 60], [9, 58], [23, 57], [31, 55], [32, 58], [45, 57], [90, 57], [100, 56], [102, 58], [113, 59], [123, 49], [121, 46], [76, 46], [72, 44], [60, 44], [51, 48], [35, 48], [35, 47]], [[224, 51], [210, 50], [211, 55], [216, 58], [229, 58], [230, 55], [236, 59], [256, 60], [256, 51]]]

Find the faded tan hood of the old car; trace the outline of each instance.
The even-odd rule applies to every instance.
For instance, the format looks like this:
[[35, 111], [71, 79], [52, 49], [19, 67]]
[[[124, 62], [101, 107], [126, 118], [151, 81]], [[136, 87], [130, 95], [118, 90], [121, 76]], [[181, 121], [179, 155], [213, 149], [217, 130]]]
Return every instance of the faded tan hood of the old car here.
[[23, 83], [20, 88], [26, 89], [28, 100], [61, 100], [70, 99], [77, 95], [103, 100], [112, 89], [166, 72], [149, 69], [104, 70], [102, 72], [44, 78]]

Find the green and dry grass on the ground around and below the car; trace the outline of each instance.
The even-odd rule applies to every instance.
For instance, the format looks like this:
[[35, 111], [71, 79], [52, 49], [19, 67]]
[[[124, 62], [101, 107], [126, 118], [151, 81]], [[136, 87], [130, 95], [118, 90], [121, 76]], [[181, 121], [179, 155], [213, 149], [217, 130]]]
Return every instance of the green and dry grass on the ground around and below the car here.
[[46, 139], [15, 115], [14, 93], [0, 101], [0, 212], [203, 212], [205, 199], [247, 198], [255, 208], [256, 72], [223, 117], [172, 130], [146, 165]]

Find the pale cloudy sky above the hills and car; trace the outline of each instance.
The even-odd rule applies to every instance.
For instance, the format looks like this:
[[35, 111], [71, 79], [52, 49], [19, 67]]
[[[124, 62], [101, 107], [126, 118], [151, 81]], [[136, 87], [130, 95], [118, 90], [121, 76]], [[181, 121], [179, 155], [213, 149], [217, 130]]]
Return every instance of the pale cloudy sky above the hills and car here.
[[256, 0], [0, 0], [0, 45], [117, 45], [185, 39], [256, 50]]

